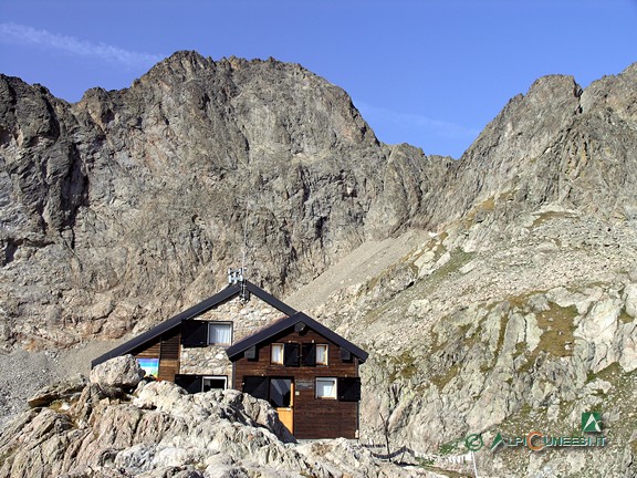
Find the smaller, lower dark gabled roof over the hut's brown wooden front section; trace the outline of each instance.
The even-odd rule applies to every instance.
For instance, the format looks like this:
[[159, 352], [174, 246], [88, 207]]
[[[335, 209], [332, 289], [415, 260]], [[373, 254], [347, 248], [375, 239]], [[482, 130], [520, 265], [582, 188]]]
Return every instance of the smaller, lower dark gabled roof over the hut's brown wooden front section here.
[[367, 360], [368, 354], [363, 349], [357, 347], [348, 340], [345, 340], [336, 332], [327, 329], [325, 325], [315, 321], [311, 316], [305, 315], [303, 312], [296, 312], [293, 315], [278, 320], [276, 322], [261, 329], [257, 333], [249, 335], [244, 339], [241, 339], [234, 345], [226, 349], [228, 358], [230, 358], [231, 361], [241, 358], [242, 356], [241, 354], [251, 346], [259, 345], [260, 343], [268, 341], [268, 339], [273, 337], [278, 333], [283, 332], [286, 329], [293, 328], [300, 322], [303, 322], [305, 325], [307, 325], [307, 328], [312, 329], [320, 335], [323, 335], [325, 339], [335, 343], [340, 347], [349, 351], [353, 355], [356, 355], [361, 360], [361, 363]]

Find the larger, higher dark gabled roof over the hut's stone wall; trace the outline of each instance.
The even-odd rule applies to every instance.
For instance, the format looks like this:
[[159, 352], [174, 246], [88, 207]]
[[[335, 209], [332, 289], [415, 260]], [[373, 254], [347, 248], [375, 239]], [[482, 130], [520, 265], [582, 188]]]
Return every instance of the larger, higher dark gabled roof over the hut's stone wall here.
[[[263, 302], [269, 303], [274, 309], [283, 312], [285, 315], [294, 315], [296, 313], [296, 311], [292, 309], [290, 305], [281, 302], [279, 299], [269, 294], [263, 289], [254, 285], [252, 282], [243, 281], [243, 284], [246, 284], [246, 289], [250, 293], [257, 295]], [[140, 335], [137, 335], [136, 337], [129, 340], [128, 342], [123, 343], [122, 345], [113, 349], [109, 352], [106, 352], [104, 355], [98, 356], [93, 362], [91, 362], [91, 367], [94, 367], [95, 365], [98, 365], [102, 362], [106, 362], [109, 358], [130, 353], [139, 345], [143, 345], [146, 342], [149, 342], [153, 339], [158, 337], [163, 333], [168, 332], [169, 330], [178, 326], [182, 321], [195, 319], [196, 316], [201, 315], [202, 313], [212, 309], [215, 305], [218, 305], [221, 302], [232, 299], [234, 295], [239, 295], [240, 293], [241, 293], [240, 283], [230, 284], [221, 292], [216, 293], [215, 295], [199, 302], [197, 305], [192, 305], [190, 309], [178, 313], [174, 318], [168, 319], [165, 322], [161, 322], [159, 325], [154, 326], [153, 329], [142, 333]]]

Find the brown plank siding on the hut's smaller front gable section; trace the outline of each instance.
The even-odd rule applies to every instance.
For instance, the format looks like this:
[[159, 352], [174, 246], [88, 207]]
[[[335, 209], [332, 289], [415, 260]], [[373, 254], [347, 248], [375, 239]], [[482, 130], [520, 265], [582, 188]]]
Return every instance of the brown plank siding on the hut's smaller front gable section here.
[[[284, 366], [271, 363], [272, 343], [327, 344], [327, 365]], [[302, 347], [302, 345], [300, 345]], [[296, 389], [294, 396], [294, 430], [296, 438], [356, 438], [358, 429], [358, 402], [340, 402], [334, 398], [316, 398], [316, 377], [357, 377], [358, 358], [351, 362], [341, 358], [341, 347], [312, 330], [281, 332], [257, 347], [258, 360], [246, 357], [234, 362], [233, 387], [243, 389], [244, 376], [290, 377], [294, 383], [311, 382], [312, 389]]]

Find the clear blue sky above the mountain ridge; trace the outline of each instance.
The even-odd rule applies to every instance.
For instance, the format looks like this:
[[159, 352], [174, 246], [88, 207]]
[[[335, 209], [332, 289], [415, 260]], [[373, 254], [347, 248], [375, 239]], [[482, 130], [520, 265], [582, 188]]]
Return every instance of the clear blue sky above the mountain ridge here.
[[637, 0], [1, 0], [0, 73], [77, 101], [177, 50], [273, 56], [342, 86], [385, 143], [460, 157], [545, 74], [637, 61]]

